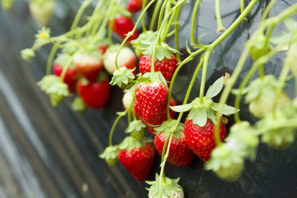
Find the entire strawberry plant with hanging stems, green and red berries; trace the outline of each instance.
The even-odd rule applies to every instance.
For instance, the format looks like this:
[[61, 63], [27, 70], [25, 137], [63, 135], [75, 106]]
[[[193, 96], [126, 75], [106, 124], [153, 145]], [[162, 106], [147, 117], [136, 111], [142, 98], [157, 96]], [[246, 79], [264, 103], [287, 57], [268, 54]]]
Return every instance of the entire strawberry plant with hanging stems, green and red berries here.
[[[131, 0], [125, 4], [120, 0], [99, 0], [89, 20], [78, 27], [83, 11], [91, 3], [91, 0], [86, 0], [78, 10], [69, 32], [51, 37], [49, 29], [43, 28], [36, 35], [35, 44], [21, 51], [21, 55], [23, 59], [30, 60], [35, 56], [37, 48], [53, 43], [47, 75], [38, 85], [50, 95], [54, 106], [77, 90], [79, 98], [73, 102], [74, 109], [84, 110], [85, 106], [101, 109], [109, 101], [110, 84], [125, 89], [125, 111], [117, 113], [119, 116], [109, 134], [109, 146], [100, 157], [112, 166], [119, 159], [136, 180], [144, 181], [153, 166], [156, 148], [161, 155], [161, 164], [155, 181], [146, 181], [151, 185], [147, 188], [149, 197], [184, 197], [182, 186], [178, 184], [179, 178], [170, 179], [165, 176], [167, 161], [175, 166], [185, 167], [192, 163], [196, 154], [205, 162], [206, 170], [212, 170], [222, 180], [235, 182], [243, 173], [245, 159], [256, 159], [260, 142], [274, 149], [285, 149], [295, 140], [297, 98], [296, 94], [295, 98], [290, 98], [284, 88], [286, 81], [292, 78], [297, 87], [297, 22], [292, 19], [297, 13], [297, 4], [268, 18], [269, 11], [276, 2], [272, 0], [263, 13], [259, 27], [243, 46], [244, 50], [237, 65], [234, 65], [233, 73], [224, 72], [225, 77], [223, 73], [220, 74], [221, 77], [211, 82], [212, 85], [205, 92], [211, 54], [230, 37], [237, 26], [248, 21], [247, 15], [257, 1], [251, 0], [246, 6], [244, 1], [240, 1], [240, 15], [226, 29], [222, 24], [220, 1], [216, 0], [214, 10], [218, 35], [208, 44], [200, 42], [203, 36], [207, 37], [206, 33], [195, 41], [196, 16], [202, 0], [195, 1], [190, 49], [187, 41], [180, 40], [179, 37], [179, 15], [189, 1]], [[146, 26], [146, 13], [152, 4], [155, 7], [150, 24]], [[132, 17], [134, 12], [140, 13], [135, 22]], [[284, 23], [287, 32], [275, 35], [277, 33], [274, 30], [280, 23]], [[138, 26], [142, 26], [139, 36]], [[118, 36], [123, 41], [114, 43]], [[170, 45], [174, 47], [166, 43], [166, 39], [172, 36], [175, 43], [171, 42]], [[181, 58], [181, 42], [186, 45], [187, 57]], [[106, 49], [106, 46], [109, 47]], [[59, 48], [67, 54], [67, 59], [54, 62], [55, 75], [52, 75], [50, 68]], [[283, 50], [286, 50], [286, 58], [277, 77], [269, 73], [267, 64]], [[139, 65], [135, 54], [140, 59]], [[245, 70], [249, 56], [252, 58], [251, 66]], [[179, 85], [176, 83], [179, 72], [182, 68], [193, 67], [191, 62], [197, 57], [200, 59], [193, 68], [194, 73], [191, 74], [187, 92], [179, 95], [182, 100], [176, 102], [173, 97], [176, 97], [174, 91]], [[58, 63], [63, 66], [58, 67]], [[72, 65], [75, 66], [75, 72], [72, 73], [76, 76], [70, 83], [71, 77], [68, 74]], [[105, 73], [103, 70], [110, 74], [110, 81], [106, 77], [100, 80]], [[140, 73], [136, 74], [138, 70]], [[198, 78], [200, 73], [201, 79]], [[240, 80], [240, 77], [243, 79]], [[200, 89], [197, 94], [193, 92], [193, 87], [198, 79]], [[191, 92], [192, 95], [195, 93], [195, 98], [189, 101]], [[232, 94], [235, 102], [230, 106], [227, 101], [233, 97]], [[241, 100], [243, 95], [244, 101]], [[240, 109], [244, 104], [248, 104], [248, 111], [256, 123], [240, 117]], [[184, 112], [188, 111], [184, 118]], [[231, 115], [235, 123], [228, 123]], [[130, 136], [113, 145], [113, 133], [121, 117], [128, 118], [128, 127], [123, 132]], [[146, 128], [155, 135], [154, 145], [152, 140], [145, 137]]]

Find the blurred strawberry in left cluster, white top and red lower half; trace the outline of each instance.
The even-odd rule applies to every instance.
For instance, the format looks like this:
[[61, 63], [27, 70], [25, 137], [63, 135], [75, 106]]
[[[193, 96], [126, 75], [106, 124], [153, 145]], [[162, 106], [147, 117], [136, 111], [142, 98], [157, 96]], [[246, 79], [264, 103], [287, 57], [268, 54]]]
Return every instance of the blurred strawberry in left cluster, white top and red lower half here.
[[95, 82], [99, 72], [103, 69], [103, 58], [98, 49], [86, 50], [75, 54], [73, 63], [78, 73], [90, 82]]

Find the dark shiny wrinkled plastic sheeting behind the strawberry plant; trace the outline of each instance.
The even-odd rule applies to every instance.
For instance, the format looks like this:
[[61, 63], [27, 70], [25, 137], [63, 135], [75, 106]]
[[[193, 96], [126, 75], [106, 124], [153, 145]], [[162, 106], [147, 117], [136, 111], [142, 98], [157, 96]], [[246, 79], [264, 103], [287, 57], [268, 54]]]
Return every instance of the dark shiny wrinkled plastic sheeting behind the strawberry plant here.
[[[67, 4], [68, 2], [68, 4]], [[214, 0], [200, 4], [196, 25], [196, 39], [208, 32], [201, 43], [214, 41], [217, 23]], [[191, 15], [195, 1], [189, 1], [181, 12], [180, 45], [183, 57], [187, 57], [185, 40], [190, 41]], [[248, 2], [246, 2], [247, 5]], [[270, 16], [293, 4], [293, 0], [277, 1]], [[57, 1], [57, 10], [50, 24], [52, 36], [69, 30], [79, 4], [76, 1]], [[244, 43], [260, 23], [266, 1], [259, 1], [247, 16], [249, 22], [241, 23], [214, 51], [209, 62], [206, 90], [225, 72], [232, 73]], [[222, 0], [222, 21], [227, 28], [240, 14], [239, 1]], [[296, 19], [296, 16], [294, 16]], [[84, 114], [70, 109], [72, 98], [58, 107], [52, 107], [47, 95], [39, 90], [36, 82], [45, 75], [50, 45], [37, 50], [31, 62], [20, 58], [20, 50], [31, 47], [34, 34], [40, 29], [32, 20], [27, 1], [16, 1], [10, 11], [0, 8], [0, 197], [146, 197], [149, 187], [136, 181], [118, 163], [108, 166], [98, 157], [108, 146], [108, 134], [116, 112], [123, 111], [122, 90], [113, 87], [113, 95], [105, 109], [88, 109]], [[280, 24], [276, 34], [285, 30]], [[174, 37], [168, 39], [174, 47]], [[193, 48], [191, 48], [193, 50]], [[285, 52], [277, 54], [267, 64], [266, 72], [279, 75]], [[173, 87], [173, 97], [178, 104], [184, 99], [198, 60], [186, 64]], [[246, 62], [243, 77], [252, 60]], [[189, 101], [199, 95], [201, 72], [193, 87]], [[255, 76], [256, 78], [256, 76]], [[239, 82], [240, 83], [240, 82]], [[293, 97], [294, 87], [286, 89]], [[230, 95], [228, 103], [233, 104]], [[255, 118], [241, 106], [241, 117], [254, 122]], [[232, 125], [229, 118], [227, 128]], [[127, 136], [127, 119], [116, 127], [114, 143]], [[152, 137], [149, 133], [147, 137]], [[246, 161], [242, 177], [234, 183], [218, 179], [213, 172], [203, 169], [203, 161], [197, 156], [189, 167], [165, 165], [170, 178], [180, 177], [185, 197], [297, 197], [297, 142], [279, 151], [260, 144], [255, 162]], [[160, 171], [157, 154], [148, 180], [154, 180]]]

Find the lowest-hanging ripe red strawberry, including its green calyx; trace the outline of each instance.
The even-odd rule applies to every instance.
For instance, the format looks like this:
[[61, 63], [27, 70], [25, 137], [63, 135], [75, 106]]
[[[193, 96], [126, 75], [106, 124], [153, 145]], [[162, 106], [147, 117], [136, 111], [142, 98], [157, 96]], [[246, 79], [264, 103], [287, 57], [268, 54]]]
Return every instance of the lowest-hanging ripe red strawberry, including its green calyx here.
[[119, 145], [119, 161], [138, 181], [144, 181], [154, 164], [155, 148], [151, 142], [126, 137]]

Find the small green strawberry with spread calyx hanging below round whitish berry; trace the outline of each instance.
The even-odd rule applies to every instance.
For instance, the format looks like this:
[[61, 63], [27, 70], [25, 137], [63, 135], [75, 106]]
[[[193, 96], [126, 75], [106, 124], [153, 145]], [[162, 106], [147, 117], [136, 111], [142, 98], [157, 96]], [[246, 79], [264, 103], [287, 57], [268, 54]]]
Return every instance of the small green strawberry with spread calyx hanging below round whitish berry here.
[[109, 84], [111, 85], [118, 85], [122, 89], [131, 89], [133, 85], [133, 80], [135, 78], [134, 74], [132, 73], [136, 67], [133, 69], [128, 69], [127, 67], [123, 66], [120, 67], [119, 70], [113, 72], [113, 77]]

